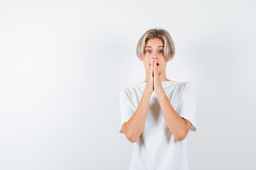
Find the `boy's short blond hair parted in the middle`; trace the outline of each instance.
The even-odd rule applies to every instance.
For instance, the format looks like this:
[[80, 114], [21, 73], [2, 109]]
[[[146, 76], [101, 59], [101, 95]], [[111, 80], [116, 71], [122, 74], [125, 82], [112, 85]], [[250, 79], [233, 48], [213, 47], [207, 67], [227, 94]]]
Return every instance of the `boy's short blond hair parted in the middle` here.
[[159, 38], [162, 40], [164, 43], [164, 59], [167, 62], [172, 60], [173, 56], [175, 55], [174, 42], [168, 31], [164, 29], [150, 29], [142, 35], [142, 37], [139, 39], [136, 49], [137, 57], [139, 60], [143, 61], [146, 41], [151, 38]]

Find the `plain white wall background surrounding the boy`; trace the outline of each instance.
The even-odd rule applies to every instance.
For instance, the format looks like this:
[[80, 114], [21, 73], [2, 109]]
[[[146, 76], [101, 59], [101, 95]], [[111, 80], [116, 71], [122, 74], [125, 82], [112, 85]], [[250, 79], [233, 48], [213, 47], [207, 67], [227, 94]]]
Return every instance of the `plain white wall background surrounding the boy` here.
[[256, 2], [0, 1], [0, 169], [128, 170], [119, 92], [145, 80], [144, 32], [166, 29], [166, 77], [197, 90], [190, 170], [256, 167]]

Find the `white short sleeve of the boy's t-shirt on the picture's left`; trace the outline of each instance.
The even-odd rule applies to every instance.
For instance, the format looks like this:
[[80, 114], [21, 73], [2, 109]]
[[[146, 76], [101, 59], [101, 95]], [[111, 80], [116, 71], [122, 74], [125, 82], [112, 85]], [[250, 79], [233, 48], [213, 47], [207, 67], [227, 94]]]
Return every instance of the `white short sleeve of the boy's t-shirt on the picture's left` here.
[[119, 133], [124, 134], [123, 124], [124, 122], [128, 121], [132, 117], [136, 108], [132, 104], [129, 97], [127, 97], [127, 95], [123, 91], [119, 93], [119, 104], [120, 104], [120, 113], [121, 113], [121, 125], [119, 128]]

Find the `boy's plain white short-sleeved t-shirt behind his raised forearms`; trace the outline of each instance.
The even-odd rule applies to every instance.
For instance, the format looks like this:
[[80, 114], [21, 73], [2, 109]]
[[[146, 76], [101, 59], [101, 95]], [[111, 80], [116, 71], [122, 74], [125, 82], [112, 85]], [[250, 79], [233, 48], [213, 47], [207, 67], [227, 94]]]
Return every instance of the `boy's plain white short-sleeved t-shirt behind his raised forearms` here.
[[[139, 105], [146, 82], [119, 93], [121, 126], [132, 117]], [[189, 131], [196, 131], [196, 90], [189, 82], [164, 81], [162, 87], [174, 110], [191, 122]], [[155, 91], [151, 93], [143, 132], [134, 143], [129, 170], [189, 170], [187, 138], [177, 141], [164, 119]]]

